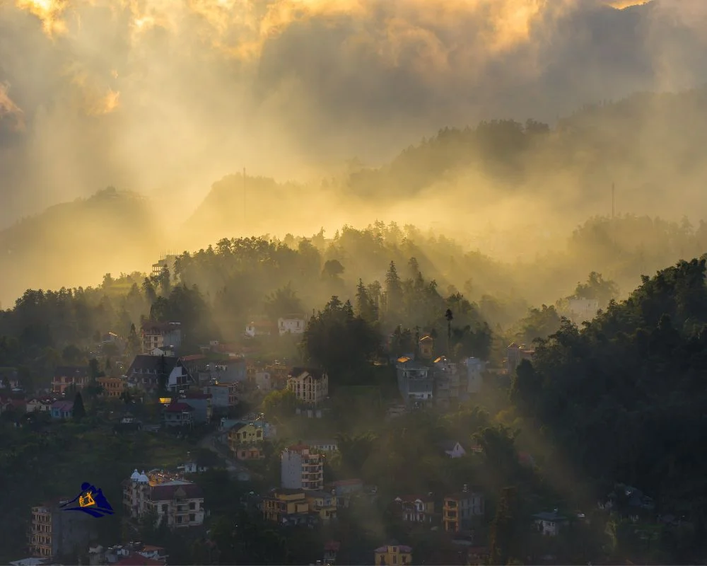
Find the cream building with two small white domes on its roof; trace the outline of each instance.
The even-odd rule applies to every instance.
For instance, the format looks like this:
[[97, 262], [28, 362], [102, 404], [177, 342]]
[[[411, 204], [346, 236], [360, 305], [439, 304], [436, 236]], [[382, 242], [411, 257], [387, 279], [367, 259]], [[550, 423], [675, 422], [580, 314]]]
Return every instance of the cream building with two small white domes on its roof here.
[[147, 512], [157, 514], [157, 524], [166, 521], [170, 529], [204, 523], [204, 495], [199, 485], [174, 475], [135, 470], [123, 482], [123, 506], [132, 519]]

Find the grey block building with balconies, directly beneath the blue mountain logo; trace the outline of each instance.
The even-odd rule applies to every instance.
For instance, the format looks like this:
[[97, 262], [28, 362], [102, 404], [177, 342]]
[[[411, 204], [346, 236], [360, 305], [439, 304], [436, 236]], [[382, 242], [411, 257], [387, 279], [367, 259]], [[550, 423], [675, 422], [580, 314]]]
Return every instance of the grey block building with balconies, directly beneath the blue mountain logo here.
[[32, 508], [28, 546], [35, 558], [61, 558], [88, 546], [95, 537], [95, 519], [85, 513], [66, 512], [59, 506], [69, 499]]

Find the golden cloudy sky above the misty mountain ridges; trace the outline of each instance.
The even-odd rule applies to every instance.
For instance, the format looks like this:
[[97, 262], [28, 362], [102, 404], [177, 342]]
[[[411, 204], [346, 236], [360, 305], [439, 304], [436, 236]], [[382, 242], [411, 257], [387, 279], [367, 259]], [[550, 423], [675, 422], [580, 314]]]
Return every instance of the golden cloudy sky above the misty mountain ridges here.
[[[707, 83], [707, 2], [0, 0], [0, 226], [115, 185], [377, 164], [440, 127]], [[618, 9], [625, 8], [625, 9]]]

